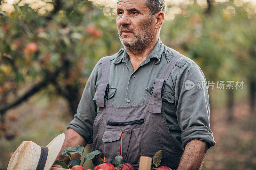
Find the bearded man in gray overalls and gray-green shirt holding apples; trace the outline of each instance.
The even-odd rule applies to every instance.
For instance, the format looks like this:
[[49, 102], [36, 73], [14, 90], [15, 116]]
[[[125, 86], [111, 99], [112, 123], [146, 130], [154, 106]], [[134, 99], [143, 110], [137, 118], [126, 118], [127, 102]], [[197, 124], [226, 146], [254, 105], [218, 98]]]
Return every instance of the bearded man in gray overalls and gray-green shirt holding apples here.
[[116, 11], [124, 49], [92, 70], [63, 148], [92, 143], [105, 162], [121, 155], [135, 169], [163, 150], [160, 166], [199, 169], [215, 144], [207, 87], [193, 86], [202, 70], [161, 42], [164, 0], [119, 0]]

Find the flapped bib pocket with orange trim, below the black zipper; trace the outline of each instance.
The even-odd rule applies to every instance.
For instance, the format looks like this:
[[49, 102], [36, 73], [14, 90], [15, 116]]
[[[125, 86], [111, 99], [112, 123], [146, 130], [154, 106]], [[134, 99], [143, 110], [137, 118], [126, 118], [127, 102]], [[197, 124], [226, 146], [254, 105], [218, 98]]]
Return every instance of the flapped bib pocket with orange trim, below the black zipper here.
[[106, 129], [102, 137], [105, 161], [115, 163], [115, 157], [123, 156], [126, 163], [139, 163], [141, 156], [142, 128]]

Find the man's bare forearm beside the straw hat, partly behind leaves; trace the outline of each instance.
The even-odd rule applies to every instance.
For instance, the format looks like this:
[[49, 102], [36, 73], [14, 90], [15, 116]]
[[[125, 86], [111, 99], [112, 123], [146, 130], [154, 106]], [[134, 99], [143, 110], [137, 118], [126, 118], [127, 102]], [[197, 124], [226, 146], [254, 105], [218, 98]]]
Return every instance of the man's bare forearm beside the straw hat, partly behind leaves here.
[[84, 138], [81, 137], [75, 130], [73, 129], [67, 129], [65, 132], [65, 140], [62, 145], [62, 148], [60, 150], [60, 153], [58, 154], [56, 160], [62, 160], [63, 162], [66, 162], [68, 164], [69, 157], [64, 157], [61, 155], [61, 152], [63, 149], [67, 147], [73, 147], [76, 148], [77, 145], [83, 145], [85, 146], [87, 143], [85, 142]]

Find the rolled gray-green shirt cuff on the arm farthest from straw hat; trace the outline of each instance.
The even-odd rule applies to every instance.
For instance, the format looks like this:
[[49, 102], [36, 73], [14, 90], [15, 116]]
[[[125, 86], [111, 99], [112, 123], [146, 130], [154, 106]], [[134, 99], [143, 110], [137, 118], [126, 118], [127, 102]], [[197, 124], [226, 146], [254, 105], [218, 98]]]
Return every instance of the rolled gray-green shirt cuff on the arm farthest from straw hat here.
[[181, 139], [183, 149], [185, 149], [186, 144], [192, 139], [199, 139], [206, 142], [208, 148], [216, 144], [213, 140], [212, 131], [207, 126], [193, 126], [184, 129], [181, 132]]

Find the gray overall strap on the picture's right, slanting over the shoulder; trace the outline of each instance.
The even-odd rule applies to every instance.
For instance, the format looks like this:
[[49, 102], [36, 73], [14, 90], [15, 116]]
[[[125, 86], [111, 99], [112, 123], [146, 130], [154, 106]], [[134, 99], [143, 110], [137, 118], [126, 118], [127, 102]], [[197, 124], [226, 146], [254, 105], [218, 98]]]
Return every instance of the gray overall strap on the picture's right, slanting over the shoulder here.
[[154, 88], [153, 88], [153, 96], [151, 96], [150, 100], [154, 100], [153, 103], [153, 113], [161, 113], [162, 110], [162, 91], [164, 89], [165, 82], [170, 77], [172, 69], [174, 68], [176, 62], [183, 57], [183, 55], [179, 54], [175, 56], [172, 61], [167, 65], [159, 78], [155, 79]]

